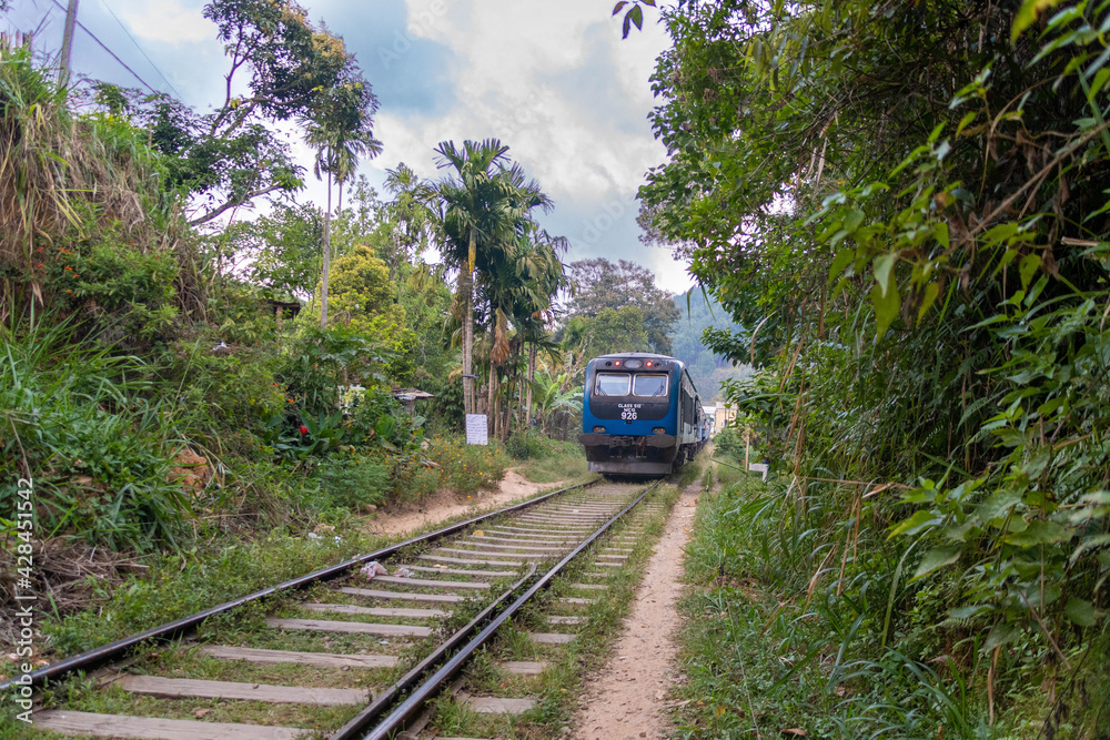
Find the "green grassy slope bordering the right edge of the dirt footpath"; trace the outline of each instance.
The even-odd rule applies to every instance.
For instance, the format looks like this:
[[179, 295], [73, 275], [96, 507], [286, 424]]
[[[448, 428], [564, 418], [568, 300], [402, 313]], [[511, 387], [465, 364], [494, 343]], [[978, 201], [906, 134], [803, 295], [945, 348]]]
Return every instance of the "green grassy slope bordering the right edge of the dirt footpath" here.
[[703, 497], [688, 550], [690, 586], [680, 607], [688, 682], [678, 737], [1108, 737], [1099, 720], [1106, 704], [1100, 709], [1097, 699], [1107, 668], [1094, 659], [1104, 650], [1088, 653], [1081, 690], [1092, 696], [1083, 712], [1046, 722], [1048, 692], [1068, 687], [1027, 685], [1009, 693], [999, 687], [990, 726], [987, 661], [967, 686], [944, 659], [919, 662], [882, 649], [882, 614], [856, 614], [837, 600], [831, 584], [839, 564], [817, 576], [769, 577], [776, 555], [767, 535], [781, 519], [769, 516], [777, 509], [768, 501], [781, 498], [785, 484], [717, 470], [736, 483]]

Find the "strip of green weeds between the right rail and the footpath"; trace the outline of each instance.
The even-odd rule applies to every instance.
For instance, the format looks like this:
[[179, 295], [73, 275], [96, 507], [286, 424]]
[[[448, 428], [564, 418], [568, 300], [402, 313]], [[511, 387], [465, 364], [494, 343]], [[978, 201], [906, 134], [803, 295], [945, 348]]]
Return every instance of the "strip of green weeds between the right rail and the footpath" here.
[[[535, 708], [522, 714], [480, 714], [455, 700], [441, 695], [435, 703], [432, 727], [440, 736], [448, 737], [559, 737], [569, 726], [577, 708], [586, 672], [599, 668], [622, 628], [622, 620], [630, 610], [636, 589], [644, 575], [652, 548], [663, 531], [670, 507], [689, 480], [697, 477], [696, 465], [688, 465], [672, 480], [645, 497], [643, 504], [658, 504], [658, 514], [643, 516], [644, 533], [636, 535], [632, 545], [616, 544], [614, 537], [626, 529], [625, 524], [614, 527], [595, 548], [632, 547], [628, 560], [622, 568], [599, 568], [588, 555], [567, 567], [537, 601], [523, 610], [513, 625], [498, 630], [496, 639], [474, 660], [463, 673], [462, 691], [474, 696], [533, 697]], [[642, 505], [643, 505], [642, 504]], [[603, 579], [588, 578], [587, 572], [612, 570]], [[604, 582], [605, 590], [573, 589], [573, 584]], [[594, 604], [562, 604], [559, 598], [577, 597], [596, 599]], [[574, 615], [585, 618], [579, 625], [551, 625], [549, 614]], [[576, 638], [566, 645], [538, 645], [527, 632], [574, 632]], [[547, 667], [536, 677], [508, 673], [497, 667], [501, 661], [544, 661]]]

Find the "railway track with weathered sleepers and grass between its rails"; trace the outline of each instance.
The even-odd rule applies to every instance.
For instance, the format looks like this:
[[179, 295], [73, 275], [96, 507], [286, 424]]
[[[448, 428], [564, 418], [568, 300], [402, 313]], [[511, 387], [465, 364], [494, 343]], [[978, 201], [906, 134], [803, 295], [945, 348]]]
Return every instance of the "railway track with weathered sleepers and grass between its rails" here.
[[[33, 728], [165, 740], [422, 737], [428, 707], [457, 693], [461, 671], [488, 660], [495, 636], [549, 650], [575, 640], [583, 610], [638, 541], [637, 523], [658, 511], [644, 503], [657, 485], [555, 491], [47, 666], [32, 675], [40, 686], [91, 673], [75, 701], [37, 711]], [[552, 596], [556, 584], [563, 596]], [[276, 611], [259, 608], [294, 594]], [[525, 617], [537, 600], [544, 615]], [[529, 677], [545, 667], [491, 668]], [[535, 704], [514, 689], [455, 700], [478, 713]]]

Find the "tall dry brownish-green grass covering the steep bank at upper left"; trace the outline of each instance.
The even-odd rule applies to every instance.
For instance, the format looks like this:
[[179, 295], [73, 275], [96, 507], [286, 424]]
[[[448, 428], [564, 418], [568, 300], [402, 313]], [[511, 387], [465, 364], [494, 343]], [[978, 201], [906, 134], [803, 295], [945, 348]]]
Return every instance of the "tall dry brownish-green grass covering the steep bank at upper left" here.
[[73, 95], [29, 47], [0, 45], [0, 310], [51, 305], [46, 275], [62, 241], [114, 230], [139, 252], [184, 256], [179, 197], [160, 186], [145, 132], [74, 113]]

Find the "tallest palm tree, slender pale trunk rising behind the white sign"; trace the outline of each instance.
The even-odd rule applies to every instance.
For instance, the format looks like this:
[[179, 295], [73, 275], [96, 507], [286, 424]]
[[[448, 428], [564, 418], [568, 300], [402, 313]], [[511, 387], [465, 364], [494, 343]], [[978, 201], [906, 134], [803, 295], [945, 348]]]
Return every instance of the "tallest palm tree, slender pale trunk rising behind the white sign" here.
[[507, 260], [529, 222], [529, 212], [551, 207], [535, 181], [525, 182], [517, 164], [506, 166], [508, 146], [496, 139], [444, 141], [437, 165], [454, 170], [436, 183], [435, 200], [445, 235], [444, 257], [458, 267], [456, 306], [463, 328], [463, 405], [474, 413], [474, 272], [490, 272]]

